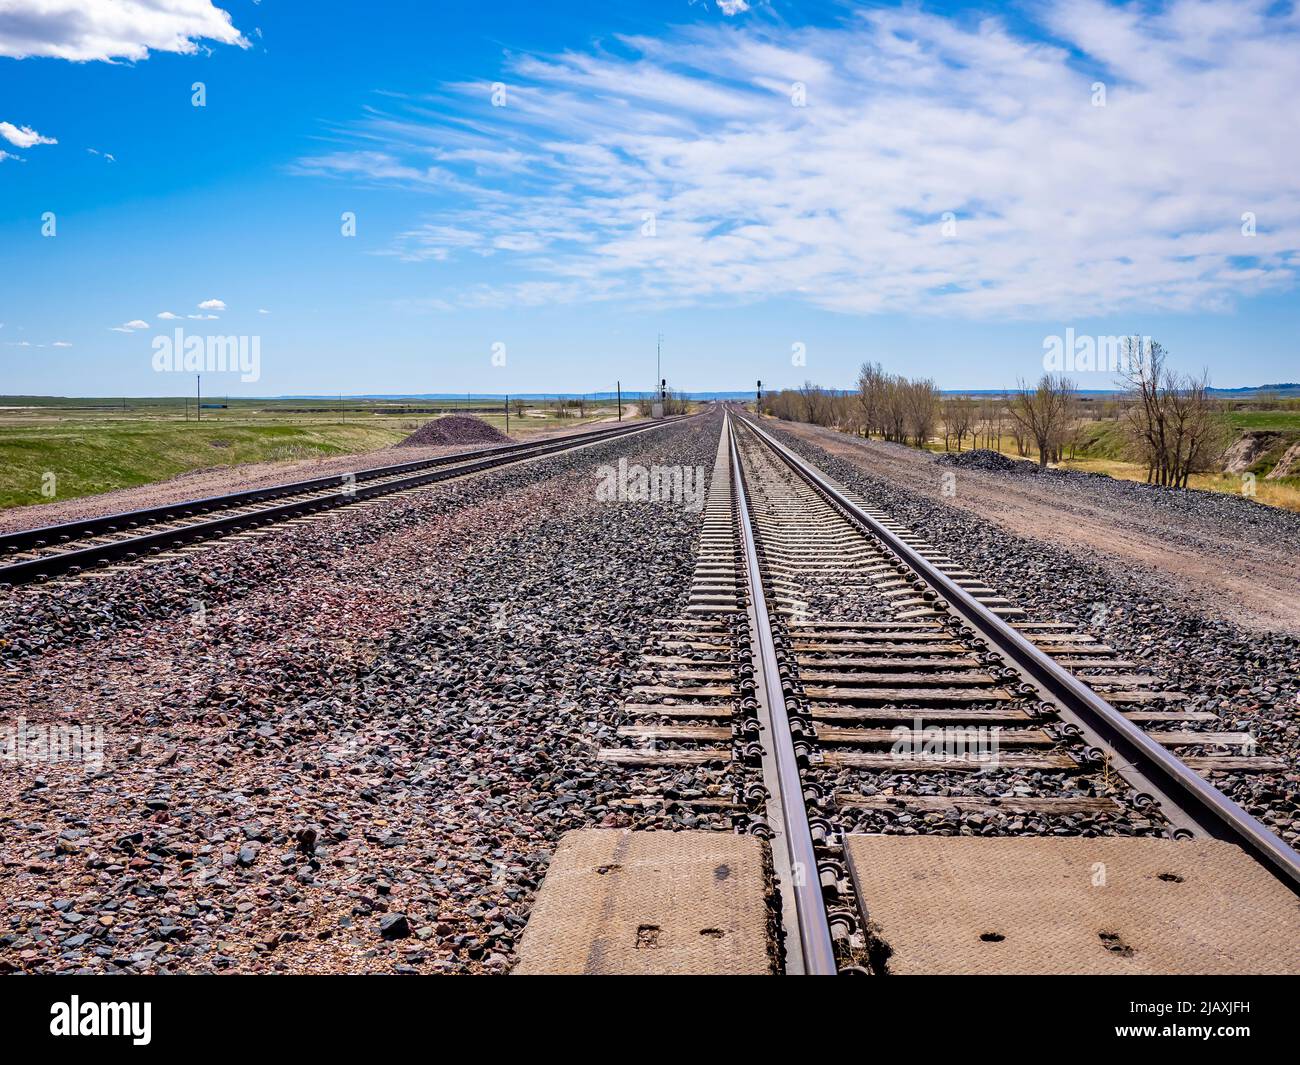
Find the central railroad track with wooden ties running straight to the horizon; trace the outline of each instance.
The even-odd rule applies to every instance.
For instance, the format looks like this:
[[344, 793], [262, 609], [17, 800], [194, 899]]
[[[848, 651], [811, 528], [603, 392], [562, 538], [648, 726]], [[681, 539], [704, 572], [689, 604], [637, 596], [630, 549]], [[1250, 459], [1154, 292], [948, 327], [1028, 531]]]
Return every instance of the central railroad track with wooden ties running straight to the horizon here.
[[[598, 758], [644, 776], [637, 804], [771, 841], [786, 973], [889, 971], [872, 925], [872, 862], [894, 853], [881, 840], [970, 836], [933, 841], [994, 865], [1019, 861], [1002, 848], [1027, 836], [1080, 840], [1126, 869], [1126, 844], [1184, 841], [1176, 853], [1219, 869], [1240, 858], [1213, 849], [1228, 843], [1253, 860], [1254, 887], [1238, 889], [1262, 879], [1291, 909], [1279, 884], [1300, 893], [1297, 854], [1212, 784], [1283, 761], [1092, 635], [1028, 618], [734, 412], [689, 605], [644, 667]], [[688, 771], [705, 787], [684, 791]], [[1165, 905], [1176, 922], [1179, 902]], [[1118, 932], [1095, 940], [1102, 957], [1131, 953]]]

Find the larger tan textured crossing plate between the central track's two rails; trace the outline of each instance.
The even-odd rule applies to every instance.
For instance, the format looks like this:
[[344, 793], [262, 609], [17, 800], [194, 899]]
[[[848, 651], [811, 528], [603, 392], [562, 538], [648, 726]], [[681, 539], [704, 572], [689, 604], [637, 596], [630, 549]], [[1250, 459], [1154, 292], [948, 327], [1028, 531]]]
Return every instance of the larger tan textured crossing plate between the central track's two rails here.
[[846, 844], [889, 973], [1300, 973], [1300, 900], [1228, 843]]

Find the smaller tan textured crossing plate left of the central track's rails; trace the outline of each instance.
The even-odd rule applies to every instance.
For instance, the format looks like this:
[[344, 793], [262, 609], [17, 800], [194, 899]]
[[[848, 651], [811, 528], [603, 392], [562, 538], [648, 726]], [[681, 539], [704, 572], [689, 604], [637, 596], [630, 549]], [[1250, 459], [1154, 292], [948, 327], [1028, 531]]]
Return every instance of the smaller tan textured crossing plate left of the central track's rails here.
[[731, 832], [566, 832], [516, 974], [774, 971], [767, 857]]

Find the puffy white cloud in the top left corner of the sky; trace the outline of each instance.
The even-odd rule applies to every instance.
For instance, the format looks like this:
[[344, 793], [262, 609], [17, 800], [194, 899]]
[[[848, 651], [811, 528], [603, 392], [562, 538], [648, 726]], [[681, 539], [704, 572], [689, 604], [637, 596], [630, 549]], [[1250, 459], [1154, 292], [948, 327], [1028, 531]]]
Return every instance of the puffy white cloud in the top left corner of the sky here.
[[248, 42], [212, 0], [0, 0], [0, 56], [86, 62]]

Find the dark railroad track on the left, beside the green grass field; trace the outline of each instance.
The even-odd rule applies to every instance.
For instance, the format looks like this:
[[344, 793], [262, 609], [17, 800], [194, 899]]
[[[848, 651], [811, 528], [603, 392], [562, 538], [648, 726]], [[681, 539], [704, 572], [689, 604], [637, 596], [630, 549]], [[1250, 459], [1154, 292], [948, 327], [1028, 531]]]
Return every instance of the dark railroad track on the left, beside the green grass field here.
[[633, 423], [0, 534], [0, 586], [81, 575], [186, 544], [351, 506], [667, 424]]

